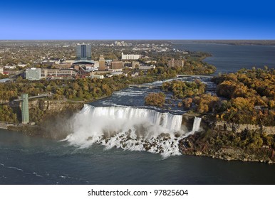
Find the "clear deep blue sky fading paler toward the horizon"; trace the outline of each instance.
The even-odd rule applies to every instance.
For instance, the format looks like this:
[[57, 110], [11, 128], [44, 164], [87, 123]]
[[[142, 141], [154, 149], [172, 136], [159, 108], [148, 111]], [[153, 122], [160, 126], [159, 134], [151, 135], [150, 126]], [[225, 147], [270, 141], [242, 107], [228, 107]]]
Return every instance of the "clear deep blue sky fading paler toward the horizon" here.
[[272, 1], [2, 1], [0, 40], [275, 39]]

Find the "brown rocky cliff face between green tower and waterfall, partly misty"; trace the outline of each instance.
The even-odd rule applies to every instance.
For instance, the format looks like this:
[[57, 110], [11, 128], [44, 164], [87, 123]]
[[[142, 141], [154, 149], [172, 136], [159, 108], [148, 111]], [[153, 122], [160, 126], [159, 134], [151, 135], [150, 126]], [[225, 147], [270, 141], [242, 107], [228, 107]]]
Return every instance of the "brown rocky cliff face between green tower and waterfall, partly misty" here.
[[[17, 104], [21, 107], [21, 104]], [[64, 139], [72, 133], [71, 119], [83, 108], [83, 103], [35, 99], [28, 102], [30, 122], [35, 126], [22, 125], [10, 127], [28, 136], [43, 136], [51, 139]]]

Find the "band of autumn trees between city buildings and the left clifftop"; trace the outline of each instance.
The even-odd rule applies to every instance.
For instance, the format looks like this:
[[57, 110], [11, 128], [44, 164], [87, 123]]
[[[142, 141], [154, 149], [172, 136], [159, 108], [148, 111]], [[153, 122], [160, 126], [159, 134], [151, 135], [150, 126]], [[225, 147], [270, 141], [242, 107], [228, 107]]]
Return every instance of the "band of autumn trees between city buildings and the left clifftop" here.
[[51, 93], [53, 99], [63, 99], [65, 97], [67, 99], [89, 101], [109, 96], [113, 91], [127, 87], [130, 83], [152, 81], [152, 77], [132, 78], [123, 75], [103, 80], [84, 78], [77, 80], [29, 81], [19, 77], [15, 82], [0, 84], [0, 100], [17, 99], [23, 93], [28, 93], [29, 96]]

